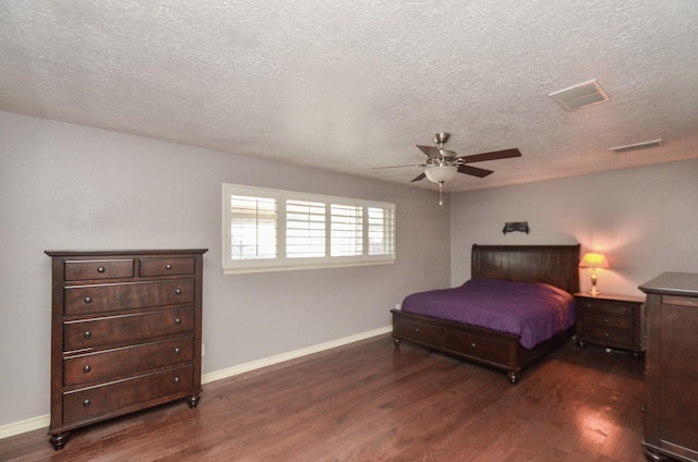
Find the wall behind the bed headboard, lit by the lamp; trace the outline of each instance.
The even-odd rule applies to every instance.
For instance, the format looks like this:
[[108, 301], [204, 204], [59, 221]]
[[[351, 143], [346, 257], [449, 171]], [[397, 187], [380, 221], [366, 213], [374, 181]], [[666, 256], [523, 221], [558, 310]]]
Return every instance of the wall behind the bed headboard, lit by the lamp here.
[[[450, 206], [452, 285], [470, 277], [473, 243], [580, 243], [606, 254], [606, 293], [642, 295], [661, 272], [698, 272], [698, 159], [455, 194]], [[528, 221], [530, 234], [504, 235], [506, 221]]]

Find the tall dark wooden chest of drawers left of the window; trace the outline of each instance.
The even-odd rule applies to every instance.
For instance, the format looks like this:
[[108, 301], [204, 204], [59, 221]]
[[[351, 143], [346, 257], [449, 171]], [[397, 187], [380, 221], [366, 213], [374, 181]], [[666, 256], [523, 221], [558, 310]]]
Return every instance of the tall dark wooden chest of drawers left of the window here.
[[206, 250], [62, 252], [52, 258], [50, 442], [201, 396]]

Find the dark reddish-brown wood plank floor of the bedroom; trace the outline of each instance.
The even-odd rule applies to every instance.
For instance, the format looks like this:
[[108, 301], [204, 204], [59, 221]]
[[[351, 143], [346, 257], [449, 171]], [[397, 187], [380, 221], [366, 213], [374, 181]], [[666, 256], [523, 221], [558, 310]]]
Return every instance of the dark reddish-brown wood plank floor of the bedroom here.
[[642, 362], [569, 342], [516, 387], [388, 336], [204, 387], [75, 431], [0, 440], [2, 461], [643, 461]]

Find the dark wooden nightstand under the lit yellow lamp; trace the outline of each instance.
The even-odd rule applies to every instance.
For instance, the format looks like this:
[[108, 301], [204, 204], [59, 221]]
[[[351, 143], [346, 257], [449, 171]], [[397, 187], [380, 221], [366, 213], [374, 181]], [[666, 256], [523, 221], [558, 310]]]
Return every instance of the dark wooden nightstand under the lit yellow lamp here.
[[645, 297], [588, 292], [575, 293], [577, 343], [628, 350], [636, 358], [645, 352]]

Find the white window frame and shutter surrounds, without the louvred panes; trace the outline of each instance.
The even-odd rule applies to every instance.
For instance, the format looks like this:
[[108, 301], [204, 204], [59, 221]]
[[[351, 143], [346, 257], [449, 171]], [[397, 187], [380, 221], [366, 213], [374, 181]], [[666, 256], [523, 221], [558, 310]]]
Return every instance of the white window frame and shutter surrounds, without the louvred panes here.
[[[276, 258], [232, 259], [231, 243], [231, 196], [274, 198], [276, 200]], [[325, 207], [325, 255], [323, 257], [287, 257], [287, 200], [323, 203]], [[296, 191], [272, 190], [240, 184], [222, 184], [222, 272], [225, 275], [286, 271], [317, 268], [338, 268], [366, 265], [389, 265], [396, 259], [396, 207], [394, 203], [365, 200], [350, 197], [301, 193]], [[362, 253], [361, 255], [332, 255], [332, 206], [361, 207]], [[382, 209], [387, 219], [384, 227], [384, 246], [386, 253], [372, 255], [370, 242], [370, 208]], [[375, 224], [374, 224], [375, 227]]]

